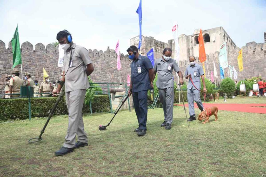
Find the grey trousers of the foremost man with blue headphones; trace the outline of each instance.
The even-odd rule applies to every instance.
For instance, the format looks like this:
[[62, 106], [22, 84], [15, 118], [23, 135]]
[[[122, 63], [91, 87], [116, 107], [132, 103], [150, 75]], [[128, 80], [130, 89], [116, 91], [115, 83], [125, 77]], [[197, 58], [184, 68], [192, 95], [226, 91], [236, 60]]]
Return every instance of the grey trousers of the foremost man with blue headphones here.
[[81, 113], [85, 94], [86, 89], [65, 92], [66, 106], [68, 109], [68, 129], [65, 136], [64, 147], [73, 148], [76, 143], [76, 135], [78, 135], [78, 141], [88, 143]]

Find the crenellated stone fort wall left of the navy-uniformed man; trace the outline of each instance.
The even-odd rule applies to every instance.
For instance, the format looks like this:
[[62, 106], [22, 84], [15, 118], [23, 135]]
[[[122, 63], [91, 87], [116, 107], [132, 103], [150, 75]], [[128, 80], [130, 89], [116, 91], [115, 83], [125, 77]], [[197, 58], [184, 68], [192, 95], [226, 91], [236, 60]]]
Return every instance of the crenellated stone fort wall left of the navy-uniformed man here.
[[[109, 48], [106, 51], [103, 50], [91, 50], [89, 49], [89, 56], [92, 59], [94, 65], [94, 72], [91, 75], [93, 82], [97, 83], [119, 83], [119, 71], [117, 70], [117, 54], [114, 50]], [[35, 45], [35, 50], [30, 42], [23, 42], [21, 45], [22, 55], [22, 73], [25, 72], [32, 74], [33, 80], [43, 81], [43, 67], [50, 76], [50, 81], [59, 80], [61, 67], [57, 67], [59, 51], [58, 47], [48, 44], [44, 46], [42, 43]], [[127, 82], [127, 74], [131, 75], [130, 59], [128, 55], [121, 54], [121, 82]], [[6, 49], [5, 43], [0, 40], [0, 93], [3, 93], [5, 85], [5, 74], [10, 74], [13, 66], [13, 54], [12, 45], [9, 42], [9, 46]], [[16, 66], [14, 70], [19, 70], [21, 74], [20, 65]], [[21, 77], [21, 75], [20, 75]]]

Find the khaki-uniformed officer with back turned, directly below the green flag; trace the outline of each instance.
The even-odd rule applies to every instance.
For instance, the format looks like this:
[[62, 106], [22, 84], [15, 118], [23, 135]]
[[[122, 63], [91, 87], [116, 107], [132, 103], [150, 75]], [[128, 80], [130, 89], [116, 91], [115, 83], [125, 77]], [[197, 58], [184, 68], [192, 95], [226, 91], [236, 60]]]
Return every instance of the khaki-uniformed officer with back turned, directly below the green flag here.
[[[12, 76], [9, 80], [9, 93], [20, 93], [20, 86], [23, 84], [23, 80], [20, 79], [19, 71], [12, 71]], [[19, 97], [20, 95], [10, 95], [10, 97]]]

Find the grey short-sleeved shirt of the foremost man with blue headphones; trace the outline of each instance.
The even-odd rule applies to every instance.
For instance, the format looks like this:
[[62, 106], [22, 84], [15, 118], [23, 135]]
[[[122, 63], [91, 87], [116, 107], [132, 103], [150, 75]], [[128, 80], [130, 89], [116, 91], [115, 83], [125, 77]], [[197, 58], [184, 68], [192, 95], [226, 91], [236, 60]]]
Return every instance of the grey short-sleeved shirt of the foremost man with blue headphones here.
[[89, 52], [82, 46], [73, 44], [72, 48], [72, 66], [69, 66], [71, 49], [64, 55], [63, 71], [65, 71], [65, 91], [87, 89], [90, 87], [86, 75], [86, 66], [92, 63]]

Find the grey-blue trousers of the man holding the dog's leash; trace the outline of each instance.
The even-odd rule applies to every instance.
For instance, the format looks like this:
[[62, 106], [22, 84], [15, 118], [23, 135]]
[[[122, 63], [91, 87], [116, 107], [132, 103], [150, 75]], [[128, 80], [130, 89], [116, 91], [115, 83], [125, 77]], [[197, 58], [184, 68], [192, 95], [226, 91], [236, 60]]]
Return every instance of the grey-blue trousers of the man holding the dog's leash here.
[[191, 88], [188, 89], [188, 108], [189, 115], [195, 117], [194, 101], [197, 103], [198, 108], [203, 111], [203, 104], [200, 99], [200, 90]]

